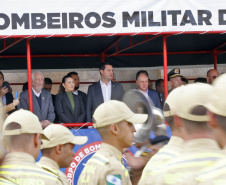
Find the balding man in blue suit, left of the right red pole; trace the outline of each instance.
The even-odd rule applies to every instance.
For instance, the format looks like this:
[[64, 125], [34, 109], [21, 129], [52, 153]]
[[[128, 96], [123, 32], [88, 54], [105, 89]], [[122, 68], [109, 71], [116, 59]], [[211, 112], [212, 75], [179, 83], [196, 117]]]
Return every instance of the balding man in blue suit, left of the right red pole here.
[[158, 93], [155, 90], [148, 88], [148, 72], [140, 70], [136, 74], [137, 89], [146, 93], [154, 103], [154, 106], [161, 109]]

